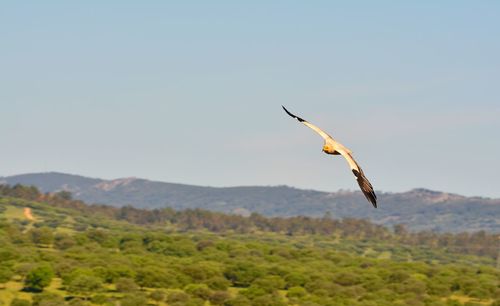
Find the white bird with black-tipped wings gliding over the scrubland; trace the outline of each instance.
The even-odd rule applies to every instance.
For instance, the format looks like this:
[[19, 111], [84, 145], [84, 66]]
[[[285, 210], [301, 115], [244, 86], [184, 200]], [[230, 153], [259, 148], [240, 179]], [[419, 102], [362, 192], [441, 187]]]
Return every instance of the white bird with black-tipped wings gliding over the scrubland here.
[[349, 164], [349, 167], [351, 168], [352, 173], [356, 177], [356, 180], [358, 181], [359, 188], [361, 188], [361, 191], [365, 195], [366, 199], [372, 203], [373, 207], [377, 208], [377, 195], [375, 194], [375, 191], [373, 190], [373, 186], [368, 181], [366, 178], [363, 170], [361, 167], [358, 165], [358, 163], [354, 160], [352, 157], [352, 151], [346, 148], [344, 145], [342, 145], [340, 142], [336, 141], [333, 139], [332, 136], [328, 135], [326, 132], [324, 132], [322, 129], [319, 127], [315, 126], [312, 123], [309, 123], [307, 120], [304, 120], [298, 116], [295, 116], [294, 114], [290, 113], [283, 105], [281, 105], [285, 112], [292, 118], [297, 119], [300, 123], [304, 124], [308, 128], [312, 129], [316, 133], [318, 133], [323, 139], [323, 150], [322, 152], [326, 154], [331, 154], [331, 155], [342, 155], [347, 163]]

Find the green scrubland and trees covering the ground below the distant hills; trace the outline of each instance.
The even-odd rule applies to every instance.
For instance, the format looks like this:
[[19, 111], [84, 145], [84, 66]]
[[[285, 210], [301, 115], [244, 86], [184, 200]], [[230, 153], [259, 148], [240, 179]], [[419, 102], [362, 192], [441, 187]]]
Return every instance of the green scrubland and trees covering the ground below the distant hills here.
[[[500, 303], [498, 237], [484, 232], [116, 209], [16, 188], [0, 188], [0, 305]], [[12, 213], [24, 207], [35, 221]]]

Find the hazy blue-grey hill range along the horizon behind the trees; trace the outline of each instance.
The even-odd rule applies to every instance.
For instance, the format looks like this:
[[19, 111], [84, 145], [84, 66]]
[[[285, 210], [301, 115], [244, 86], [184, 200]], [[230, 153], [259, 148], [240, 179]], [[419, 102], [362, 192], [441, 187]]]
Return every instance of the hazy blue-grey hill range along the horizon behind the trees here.
[[427, 189], [379, 193], [379, 208], [361, 192], [320, 192], [288, 186], [202, 187], [138, 178], [102, 180], [64, 173], [1, 177], [0, 184], [34, 185], [43, 192], [66, 190], [88, 203], [138, 208], [203, 208], [266, 216], [305, 215], [369, 219], [411, 230], [500, 232], [500, 199], [464, 197]]

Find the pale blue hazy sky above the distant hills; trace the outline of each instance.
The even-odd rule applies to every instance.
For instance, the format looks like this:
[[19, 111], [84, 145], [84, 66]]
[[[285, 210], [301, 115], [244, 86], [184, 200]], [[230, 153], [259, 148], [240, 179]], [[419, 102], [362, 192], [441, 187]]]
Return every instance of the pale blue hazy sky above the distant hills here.
[[499, 1], [5, 1], [0, 175], [500, 197]]

